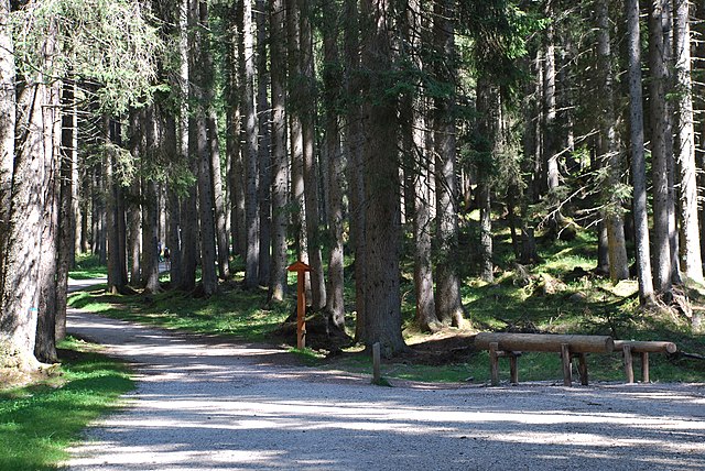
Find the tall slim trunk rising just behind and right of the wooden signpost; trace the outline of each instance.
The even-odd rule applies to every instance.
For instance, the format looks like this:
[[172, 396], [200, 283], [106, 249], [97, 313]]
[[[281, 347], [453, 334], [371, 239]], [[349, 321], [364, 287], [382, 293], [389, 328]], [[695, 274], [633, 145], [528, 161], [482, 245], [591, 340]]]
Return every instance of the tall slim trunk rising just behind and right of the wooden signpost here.
[[326, 286], [323, 270], [323, 255], [321, 253], [321, 224], [318, 213], [318, 171], [315, 152], [315, 122], [316, 97], [315, 76], [313, 65], [313, 35], [311, 17], [313, 10], [310, 0], [299, 0], [300, 31], [301, 31], [301, 79], [305, 81], [302, 88], [303, 109], [300, 113], [301, 130], [303, 136], [304, 157], [304, 199], [306, 206], [306, 236], [308, 242], [308, 264], [311, 265], [311, 304], [315, 311], [322, 310], [326, 305]]

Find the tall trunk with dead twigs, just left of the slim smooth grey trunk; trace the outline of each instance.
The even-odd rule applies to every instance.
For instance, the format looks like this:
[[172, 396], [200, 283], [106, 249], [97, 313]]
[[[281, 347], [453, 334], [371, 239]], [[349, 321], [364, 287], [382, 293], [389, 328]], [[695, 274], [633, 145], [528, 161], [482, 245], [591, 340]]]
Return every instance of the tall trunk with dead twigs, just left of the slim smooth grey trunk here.
[[605, 210], [604, 219], [607, 230], [607, 248], [609, 256], [609, 276], [612, 281], [629, 277], [629, 260], [625, 241], [625, 221], [622, 218], [621, 191], [616, 191], [622, 173], [621, 153], [617, 145], [615, 130], [615, 105], [612, 98], [612, 70], [610, 46], [610, 22], [607, 0], [597, 2], [597, 72], [601, 106], [599, 112], [600, 156], [607, 167], [607, 179], [603, 189]]

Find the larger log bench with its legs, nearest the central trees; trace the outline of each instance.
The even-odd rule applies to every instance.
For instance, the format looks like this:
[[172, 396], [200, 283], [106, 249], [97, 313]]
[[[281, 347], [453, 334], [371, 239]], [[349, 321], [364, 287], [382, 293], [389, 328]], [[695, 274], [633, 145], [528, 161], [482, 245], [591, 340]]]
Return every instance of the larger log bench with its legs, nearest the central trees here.
[[475, 336], [475, 348], [489, 351], [492, 386], [499, 385], [499, 358], [509, 358], [510, 381], [519, 382], [517, 358], [522, 351], [558, 352], [563, 361], [563, 384], [573, 385], [572, 360], [578, 359], [578, 374], [583, 385], [588, 384], [586, 353], [610, 353], [615, 341], [609, 336], [571, 336], [552, 333], [480, 332]]

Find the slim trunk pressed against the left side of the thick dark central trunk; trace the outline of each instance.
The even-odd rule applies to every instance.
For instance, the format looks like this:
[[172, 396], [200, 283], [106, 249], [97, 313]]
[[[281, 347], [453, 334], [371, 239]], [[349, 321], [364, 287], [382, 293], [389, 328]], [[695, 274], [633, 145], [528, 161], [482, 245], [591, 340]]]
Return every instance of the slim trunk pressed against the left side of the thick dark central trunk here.
[[361, 109], [357, 102], [359, 90], [359, 18], [357, 0], [345, 0], [344, 4], [344, 47], [345, 47], [345, 77], [344, 86], [350, 103], [346, 107], [346, 130], [344, 151], [347, 155], [349, 200], [350, 200], [350, 239], [355, 252], [355, 339], [365, 339], [366, 308], [365, 308], [365, 211], [364, 211], [364, 182], [362, 172], [362, 128]]

